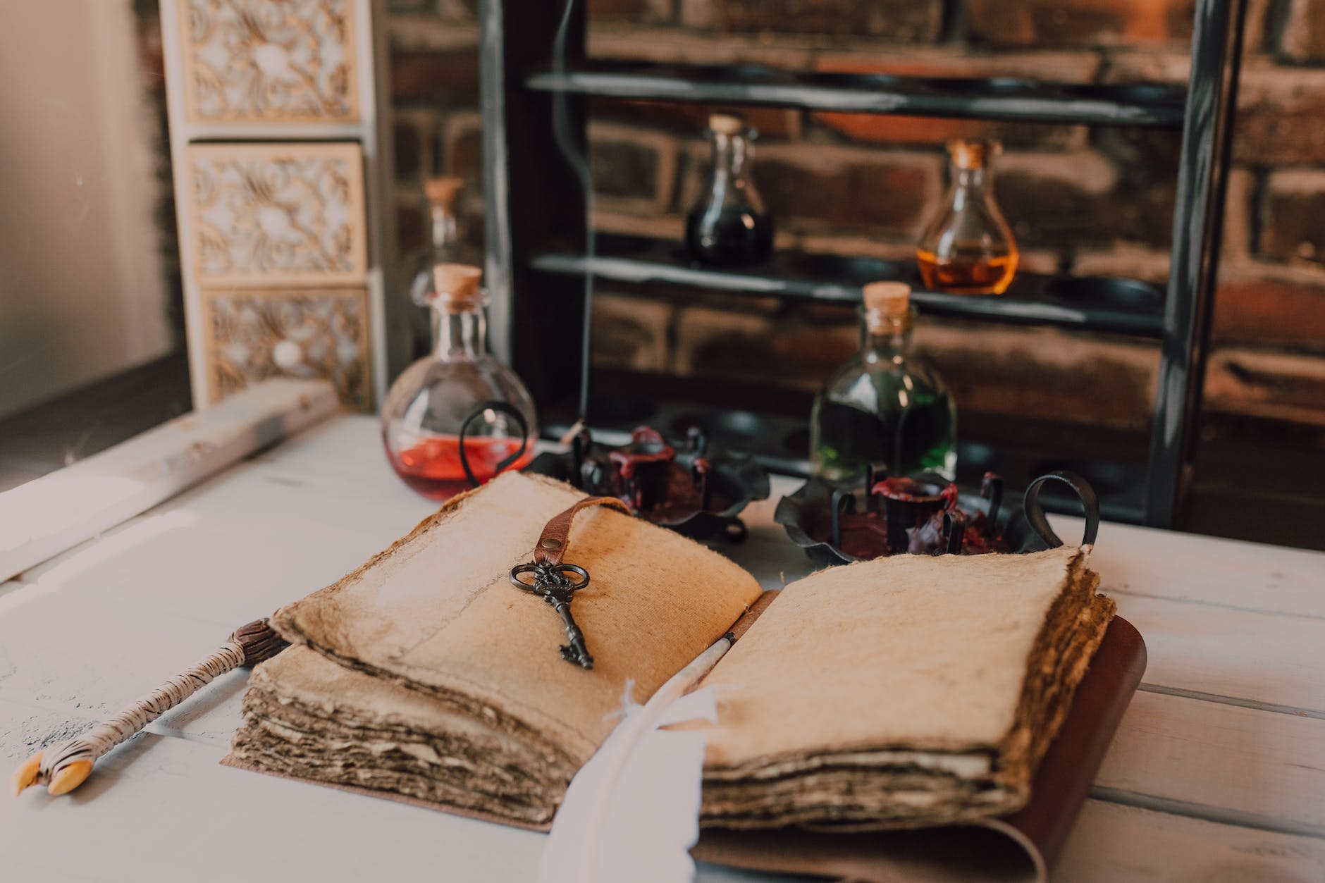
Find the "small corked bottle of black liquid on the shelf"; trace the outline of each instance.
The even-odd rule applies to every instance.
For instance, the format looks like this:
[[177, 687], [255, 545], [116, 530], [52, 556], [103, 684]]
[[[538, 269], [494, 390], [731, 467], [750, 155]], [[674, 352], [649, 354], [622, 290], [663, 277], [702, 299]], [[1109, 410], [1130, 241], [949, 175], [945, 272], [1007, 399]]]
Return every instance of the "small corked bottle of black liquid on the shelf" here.
[[758, 264], [772, 252], [772, 219], [750, 179], [753, 135], [739, 117], [709, 117], [713, 168], [685, 221], [685, 248], [700, 264]]

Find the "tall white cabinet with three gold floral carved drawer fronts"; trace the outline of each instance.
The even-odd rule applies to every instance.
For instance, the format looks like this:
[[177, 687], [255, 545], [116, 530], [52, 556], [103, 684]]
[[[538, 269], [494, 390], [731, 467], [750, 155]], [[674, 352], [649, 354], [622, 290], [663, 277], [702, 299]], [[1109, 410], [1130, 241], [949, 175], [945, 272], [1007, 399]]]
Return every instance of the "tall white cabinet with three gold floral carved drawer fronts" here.
[[326, 378], [347, 408], [380, 395], [375, 16], [374, 0], [162, 0], [197, 407], [278, 375]]

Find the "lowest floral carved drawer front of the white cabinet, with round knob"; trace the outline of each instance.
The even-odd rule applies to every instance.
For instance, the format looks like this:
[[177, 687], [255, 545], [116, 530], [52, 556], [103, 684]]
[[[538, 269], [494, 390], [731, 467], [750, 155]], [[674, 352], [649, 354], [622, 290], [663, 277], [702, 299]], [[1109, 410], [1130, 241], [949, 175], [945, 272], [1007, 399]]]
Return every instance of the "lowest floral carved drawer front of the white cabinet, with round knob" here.
[[346, 289], [203, 290], [213, 402], [270, 377], [325, 378], [341, 403], [372, 406], [368, 296]]

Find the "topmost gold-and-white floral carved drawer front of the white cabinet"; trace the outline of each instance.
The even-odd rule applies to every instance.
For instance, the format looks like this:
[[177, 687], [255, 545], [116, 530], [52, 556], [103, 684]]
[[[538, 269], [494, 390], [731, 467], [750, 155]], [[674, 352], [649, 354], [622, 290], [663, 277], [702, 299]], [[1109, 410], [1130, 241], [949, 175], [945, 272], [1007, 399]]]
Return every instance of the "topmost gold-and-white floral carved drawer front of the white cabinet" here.
[[189, 122], [358, 122], [352, 0], [176, 0]]

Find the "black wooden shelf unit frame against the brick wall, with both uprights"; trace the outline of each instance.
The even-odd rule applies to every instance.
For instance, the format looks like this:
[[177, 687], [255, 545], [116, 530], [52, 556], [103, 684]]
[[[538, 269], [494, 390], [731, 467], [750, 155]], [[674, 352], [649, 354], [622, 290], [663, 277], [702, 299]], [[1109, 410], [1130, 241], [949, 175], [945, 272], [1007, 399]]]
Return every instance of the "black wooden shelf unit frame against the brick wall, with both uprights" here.
[[[1015, 0], [1011, 0], [1015, 3]], [[1247, 0], [1195, 0], [1186, 89], [1167, 85], [1068, 85], [1019, 78], [945, 80], [804, 73], [758, 65], [698, 66], [590, 60], [584, 4], [570, 8], [560, 65], [554, 34], [566, 7], [488, 0], [482, 33], [484, 184], [493, 333], [539, 406], [572, 396], [587, 333], [586, 270], [616, 282], [825, 301], [859, 300], [869, 278], [906, 278], [905, 264], [779, 255], [749, 270], [697, 269], [669, 243], [603, 240], [584, 257], [580, 182], [553, 143], [584, 145], [590, 95], [689, 103], [782, 106], [871, 114], [1182, 130], [1170, 273], [1162, 298], [1140, 282], [1048, 280], [1023, 274], [999, 298], [917, 292], [925, 312], [1034, 322], [1159, 339], [1143, 520], [1173, 526], [1187, 488], [1206, 373], [1210, 314], [1228, 174], [1230, 138]], [[562, 110], [554, 98], [564, 98]], [[682, 388], [684, 384], [677, 384]], [[750, 408], [750, 399], [729, 406]], [[592, 415], [591, 415], [592, 416]]]

